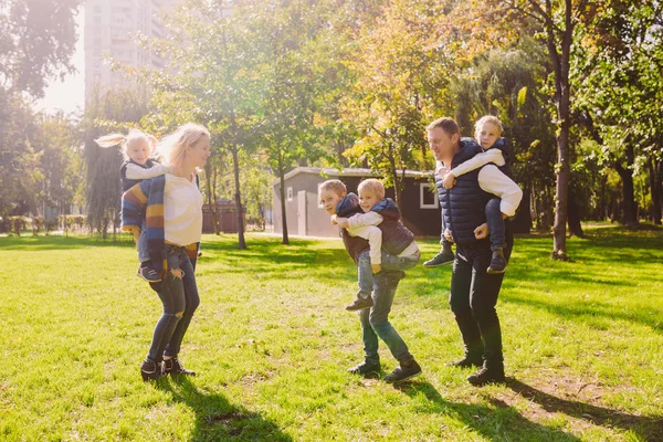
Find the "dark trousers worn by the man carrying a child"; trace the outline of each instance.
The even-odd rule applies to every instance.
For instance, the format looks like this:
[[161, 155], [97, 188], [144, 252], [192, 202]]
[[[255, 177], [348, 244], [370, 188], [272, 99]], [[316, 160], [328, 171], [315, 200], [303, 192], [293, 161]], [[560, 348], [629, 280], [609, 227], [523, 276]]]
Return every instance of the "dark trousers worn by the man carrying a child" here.
[[504, 274], [486, 273], [491, 255], [487, 240], [457, 244], [449, 297], [465, 350], [483, 354], [488, 367], [503, 365], [502, 330], [495, 305]]

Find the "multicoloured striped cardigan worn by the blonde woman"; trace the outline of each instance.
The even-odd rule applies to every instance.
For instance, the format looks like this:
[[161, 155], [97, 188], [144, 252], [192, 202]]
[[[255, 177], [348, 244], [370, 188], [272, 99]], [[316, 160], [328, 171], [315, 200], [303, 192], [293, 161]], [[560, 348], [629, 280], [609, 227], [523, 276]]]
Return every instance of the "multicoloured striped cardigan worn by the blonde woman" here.
[[[161, 277], [166, 277], [168, 263], [166, 261], [166, 241], [164, 232], [164, 189], [166, 176], [140, 181], [122, 196], [122, 230], [129, 232], [135, 228], [140, 229], [143, 219], [147, 229], [147, 248], [149, 259]], [[198, 245], [187, 245], [187, 255], [196, 270]]]

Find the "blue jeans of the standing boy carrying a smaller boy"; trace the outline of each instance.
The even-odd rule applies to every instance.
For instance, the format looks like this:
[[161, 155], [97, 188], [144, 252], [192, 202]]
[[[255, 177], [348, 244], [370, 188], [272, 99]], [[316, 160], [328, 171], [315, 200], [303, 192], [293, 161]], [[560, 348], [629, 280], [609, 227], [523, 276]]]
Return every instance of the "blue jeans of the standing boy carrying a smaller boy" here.
[[381, 271], [375, 276], [373, 306], [359, 311], [359, 322], [364, 340], [366, 361], [380, 362], [378, 337], [387, 344], [391, 355], [399, 362], [409, 362], [414, 358], [398, 332], [389, 323], [389, 312], [400, 281], [399, 272]]

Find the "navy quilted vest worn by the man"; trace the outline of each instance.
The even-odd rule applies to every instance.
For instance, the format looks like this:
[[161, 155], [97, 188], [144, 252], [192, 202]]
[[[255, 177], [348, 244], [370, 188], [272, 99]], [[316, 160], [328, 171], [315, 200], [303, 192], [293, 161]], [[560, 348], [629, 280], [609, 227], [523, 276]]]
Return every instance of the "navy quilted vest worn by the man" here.
[[[472, 138], [461, 140], [461, 150], [454, 155], [451, 168], [466, 161], [481, 151], [481, 147]], [[482, 168], [472, 170], [456, 178], [451, 189], [442, 186], [442, 177], [435, 177], [440, 206], [444, 224], [451, 231], [456, 244], [474, 244], [474, 229], [486, 222], [486, 203], [493, 196], [478, 186], [478, 172]]]

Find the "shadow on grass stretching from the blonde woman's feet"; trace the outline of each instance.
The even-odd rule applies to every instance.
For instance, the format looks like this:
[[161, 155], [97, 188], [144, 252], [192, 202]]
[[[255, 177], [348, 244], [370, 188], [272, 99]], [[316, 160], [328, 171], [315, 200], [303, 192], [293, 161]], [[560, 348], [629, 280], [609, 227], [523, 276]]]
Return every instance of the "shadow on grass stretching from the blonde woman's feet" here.
[[171, 382], [160, 379], [156, 385], [196, 414], [189, 441], [292, 441], [274, 422], [231, 404], [223, 394], [201, 392], [187, 377], [172, 378]]

